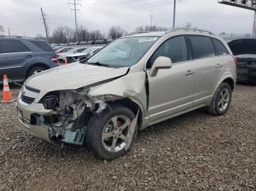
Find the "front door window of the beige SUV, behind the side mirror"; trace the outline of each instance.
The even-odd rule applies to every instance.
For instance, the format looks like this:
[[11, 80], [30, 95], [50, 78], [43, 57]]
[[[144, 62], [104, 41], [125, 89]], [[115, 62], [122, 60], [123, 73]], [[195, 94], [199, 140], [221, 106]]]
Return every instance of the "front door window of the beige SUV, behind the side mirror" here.
[[188, 54], [185, 37], [178, 36], [165, 41], [149, 59], [147, 69], [151, 68], [154, 61], [156, 61], [159, 56], [168, 57], [173, 63], [187, 61]]

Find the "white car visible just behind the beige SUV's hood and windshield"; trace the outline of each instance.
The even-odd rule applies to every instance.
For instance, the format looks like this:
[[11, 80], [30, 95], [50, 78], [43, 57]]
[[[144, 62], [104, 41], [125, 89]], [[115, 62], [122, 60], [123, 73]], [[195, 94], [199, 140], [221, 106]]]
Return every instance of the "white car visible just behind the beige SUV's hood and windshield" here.
[[81, 61], [84, 58], [89, 58], [101, 49], [102, 47], [89, 47], [88, 49], [83, 50], [83, 52], [67, 55], [65, 63], [73, 63]]

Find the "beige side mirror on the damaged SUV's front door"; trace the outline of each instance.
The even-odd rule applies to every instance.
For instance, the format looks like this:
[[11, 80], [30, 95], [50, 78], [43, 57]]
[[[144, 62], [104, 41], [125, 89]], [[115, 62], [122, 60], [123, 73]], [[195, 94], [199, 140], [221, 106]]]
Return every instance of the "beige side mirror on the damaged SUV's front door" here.
[[173, 66], [172, 61], [170, 58], [167, 58], [165, 56], [159, 56], [156, 61], [154, 61], [153, 66], [151, 70], [149, 71], [149, 74], [151, 77], [157, 76], [157, 71], [159, 69], [170, 69]]

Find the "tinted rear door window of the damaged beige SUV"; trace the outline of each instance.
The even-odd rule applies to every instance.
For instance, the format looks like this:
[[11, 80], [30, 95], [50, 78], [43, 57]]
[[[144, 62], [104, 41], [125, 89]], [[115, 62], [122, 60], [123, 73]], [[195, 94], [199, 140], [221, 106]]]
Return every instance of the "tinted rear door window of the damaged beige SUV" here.
[[206, 36], [189, 36], [194, 52], [194, 59], [207, 58], [215, 55], [214, 44]]

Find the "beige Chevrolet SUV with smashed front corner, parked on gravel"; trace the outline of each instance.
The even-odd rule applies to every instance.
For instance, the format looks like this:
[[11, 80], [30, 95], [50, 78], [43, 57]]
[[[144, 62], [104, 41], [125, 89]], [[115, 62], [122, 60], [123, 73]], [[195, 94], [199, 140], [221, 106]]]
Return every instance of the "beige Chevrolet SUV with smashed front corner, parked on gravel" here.
[[206, 106], [222, 115], [236, 84], [227, 44], [206, 31], [132, 34], [91, 58], [36, 74], [18, 95], [18, 120], [51, 144], [124, 155], [138, 130]]

